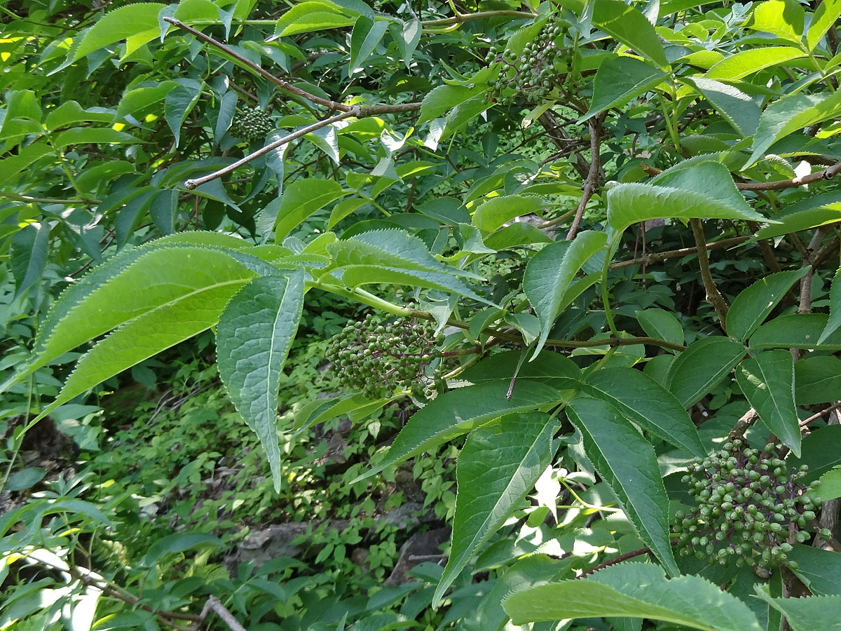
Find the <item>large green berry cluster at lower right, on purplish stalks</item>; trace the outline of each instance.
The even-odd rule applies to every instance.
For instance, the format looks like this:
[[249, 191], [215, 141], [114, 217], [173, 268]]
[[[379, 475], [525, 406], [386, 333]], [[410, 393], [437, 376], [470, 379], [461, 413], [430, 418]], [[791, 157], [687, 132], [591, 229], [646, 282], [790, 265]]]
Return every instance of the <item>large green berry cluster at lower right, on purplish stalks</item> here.
[[[695, 554], [710, 564], [752, 565], [759, 576], [770, 575], [772, 563], [796, 569], [787, 559], [790, 540], [812, 538], [807, 528], [820, 500], [801, 480], [807, 465], [789, 469], [776, 457], [780, 445], [760, 451], [741, 440], [706, 459], [697, 459], [683, 482], [698, 502], [689, 513], [675, 515], [680, 554]], [[823, 533], [821, 534], [828, 534]]]

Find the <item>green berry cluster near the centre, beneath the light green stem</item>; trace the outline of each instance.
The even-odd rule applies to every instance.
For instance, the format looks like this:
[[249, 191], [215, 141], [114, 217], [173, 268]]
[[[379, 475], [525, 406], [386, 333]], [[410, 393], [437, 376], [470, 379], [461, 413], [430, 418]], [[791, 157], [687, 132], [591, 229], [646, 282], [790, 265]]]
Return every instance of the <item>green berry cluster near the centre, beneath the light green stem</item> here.
[[404, 388], [426, 400], [425, 385], [442, 386], [436, 371], [427, 370], [441, 358], [437, 346], [442, 342], [431, 322], [399, 318], [381, 323], [369, 314], [361, 322], [348, 322], [333, 336], [325, 356], [339, 383], [369, 399]]

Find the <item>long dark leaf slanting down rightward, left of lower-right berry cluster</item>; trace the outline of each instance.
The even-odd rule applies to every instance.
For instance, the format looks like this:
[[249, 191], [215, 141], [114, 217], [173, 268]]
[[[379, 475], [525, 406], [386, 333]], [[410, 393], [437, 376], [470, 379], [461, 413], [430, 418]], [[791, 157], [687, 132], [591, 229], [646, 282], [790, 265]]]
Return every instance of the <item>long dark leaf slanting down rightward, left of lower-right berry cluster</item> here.
[[639, 537], [670, 575], [680, 574], [669, 543], [669, 498], [651, 444], [606, 401], [577, 396], [567, 416], [584, 437], [584, 453], [611, 486]]

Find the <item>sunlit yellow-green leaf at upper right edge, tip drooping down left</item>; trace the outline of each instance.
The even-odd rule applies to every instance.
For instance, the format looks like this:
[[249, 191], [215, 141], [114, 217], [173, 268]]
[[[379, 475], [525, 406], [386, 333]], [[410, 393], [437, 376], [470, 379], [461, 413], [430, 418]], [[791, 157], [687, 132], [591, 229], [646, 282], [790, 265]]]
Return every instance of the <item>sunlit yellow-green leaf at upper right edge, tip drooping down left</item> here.
[[765, 155], [781, 138], [796, 131], [836, 118], [841, 114], [841, 93], [791, 94], [771, 103], [759, 118], [754, 136], [754, 153], [746, 167]]

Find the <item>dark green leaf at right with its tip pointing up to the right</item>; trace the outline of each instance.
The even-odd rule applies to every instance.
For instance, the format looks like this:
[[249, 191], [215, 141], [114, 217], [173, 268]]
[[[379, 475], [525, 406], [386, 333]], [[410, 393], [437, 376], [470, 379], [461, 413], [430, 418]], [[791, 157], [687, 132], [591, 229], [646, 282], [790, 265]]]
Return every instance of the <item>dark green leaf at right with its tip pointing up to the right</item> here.
[[733, 300], [727, 311], [727, 335], [744, 342], [759, 328], [774, 307], [780, 303], [791, 285], [809, 271], [809, 268], [770, 274], [759, 278]]

